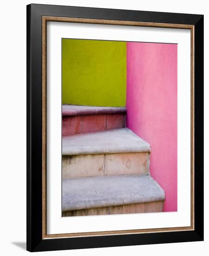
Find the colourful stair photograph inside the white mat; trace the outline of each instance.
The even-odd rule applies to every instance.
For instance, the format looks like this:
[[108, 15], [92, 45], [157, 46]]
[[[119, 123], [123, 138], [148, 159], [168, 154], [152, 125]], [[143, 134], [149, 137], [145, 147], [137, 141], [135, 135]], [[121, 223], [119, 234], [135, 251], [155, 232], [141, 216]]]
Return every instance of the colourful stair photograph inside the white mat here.
[[62, 216], [177, 211], [177, 44], [62, 38]]

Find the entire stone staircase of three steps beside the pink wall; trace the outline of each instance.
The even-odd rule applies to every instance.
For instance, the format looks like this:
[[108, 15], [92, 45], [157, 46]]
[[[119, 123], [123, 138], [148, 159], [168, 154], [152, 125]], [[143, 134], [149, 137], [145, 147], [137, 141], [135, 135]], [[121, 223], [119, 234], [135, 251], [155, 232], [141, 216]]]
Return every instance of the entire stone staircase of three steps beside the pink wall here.
[[62, 216], [163, 211], [150, 145], [125, 116], [126, 108], [63, 105]]

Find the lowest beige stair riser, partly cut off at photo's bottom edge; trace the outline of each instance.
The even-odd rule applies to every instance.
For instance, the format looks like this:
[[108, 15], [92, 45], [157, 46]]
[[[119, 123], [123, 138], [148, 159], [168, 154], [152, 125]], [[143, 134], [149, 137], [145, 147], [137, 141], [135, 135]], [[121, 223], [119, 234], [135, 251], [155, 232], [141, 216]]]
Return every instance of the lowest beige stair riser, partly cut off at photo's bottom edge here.
[[119, 206], [91, 208], [82, 210], [63, 211], [62, 216], [92, 216], [92, 215], [107, 215], [107, 214], [131, 214], [131, 213], [149, 213], [162, 212], [163, 201], [145, 202], [137, 204], [127, 204]]

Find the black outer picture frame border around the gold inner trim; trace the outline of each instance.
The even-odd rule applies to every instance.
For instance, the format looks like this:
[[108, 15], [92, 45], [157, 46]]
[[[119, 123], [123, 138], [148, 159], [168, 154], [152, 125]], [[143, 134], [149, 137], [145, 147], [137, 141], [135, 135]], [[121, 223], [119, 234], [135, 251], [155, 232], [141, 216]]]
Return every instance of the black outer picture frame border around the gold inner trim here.
[[[43, 239], [42, 17], [71, 17], [194, 26], [194, 230]], [[203, 240], [203, 15], [90, 7], [27, 6], [27, 247], [84, 249]]]

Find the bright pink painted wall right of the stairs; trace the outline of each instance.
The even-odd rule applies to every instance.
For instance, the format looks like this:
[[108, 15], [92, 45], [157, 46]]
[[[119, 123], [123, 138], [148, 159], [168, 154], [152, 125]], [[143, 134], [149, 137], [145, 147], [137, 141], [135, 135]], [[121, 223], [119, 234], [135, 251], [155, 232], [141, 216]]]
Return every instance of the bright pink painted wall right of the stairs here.
[[127, 42], [126, 126], [151, 146], [150, 174], [177, 210], [177, 45]]

